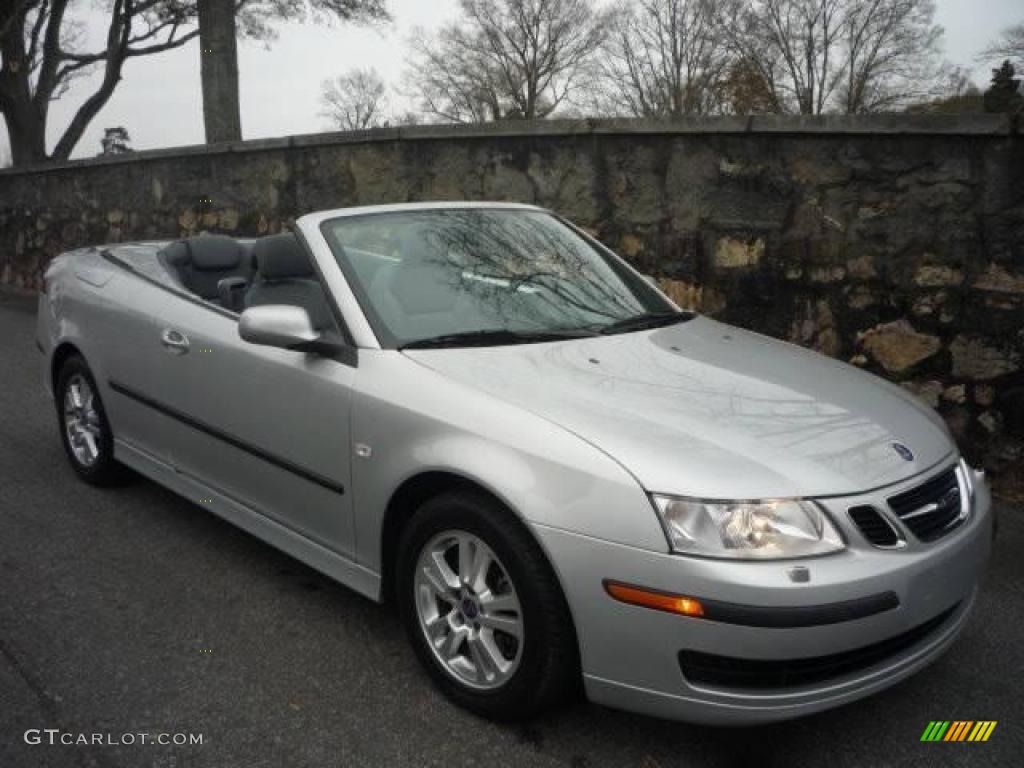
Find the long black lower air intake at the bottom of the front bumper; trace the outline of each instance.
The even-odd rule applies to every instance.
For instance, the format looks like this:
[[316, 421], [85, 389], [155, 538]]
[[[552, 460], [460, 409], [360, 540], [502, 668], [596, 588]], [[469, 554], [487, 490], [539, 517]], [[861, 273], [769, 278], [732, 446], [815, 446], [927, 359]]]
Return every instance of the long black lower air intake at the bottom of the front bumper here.
[[796, 688], [866, 670], [925, 640], [953, 614], [959, 603], [912, 630], [862, 648], [826, 656], [751, 659], [695, 650], [679, 652], [679, 667], [691, 683], [721, 688]]

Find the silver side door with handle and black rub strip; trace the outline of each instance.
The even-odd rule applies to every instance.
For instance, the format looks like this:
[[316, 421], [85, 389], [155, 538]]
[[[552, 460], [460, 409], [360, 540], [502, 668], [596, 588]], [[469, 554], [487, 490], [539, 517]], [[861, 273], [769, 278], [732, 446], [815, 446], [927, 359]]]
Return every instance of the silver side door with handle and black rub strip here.
[[172, 464], [340, 554], [352, 552], [354, 370], [244, 342], [236, 319], [173, 297], [151, 340], [150, 396]]

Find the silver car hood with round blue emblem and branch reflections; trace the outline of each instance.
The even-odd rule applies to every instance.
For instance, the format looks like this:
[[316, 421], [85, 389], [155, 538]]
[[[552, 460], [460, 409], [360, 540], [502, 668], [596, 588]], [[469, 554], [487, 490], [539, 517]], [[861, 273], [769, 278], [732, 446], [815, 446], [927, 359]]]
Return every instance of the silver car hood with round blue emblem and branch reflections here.
[[652, 492], [847, 495], [905, 479], [955, 452], [941, 419], [899, 387], [707, 317], [614, 336], [407, 354], [570, 430]]

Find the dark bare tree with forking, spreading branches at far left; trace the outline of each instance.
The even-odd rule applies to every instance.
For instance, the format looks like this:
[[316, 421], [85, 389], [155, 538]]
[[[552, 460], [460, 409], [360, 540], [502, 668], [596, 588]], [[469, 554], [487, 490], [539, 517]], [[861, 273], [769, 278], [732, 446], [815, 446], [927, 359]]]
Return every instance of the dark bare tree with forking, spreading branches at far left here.
[[[110, 0], [102, 46], [83, 50], [70, 5], [71, 0], [0, 0], [0, 114], [15, 166], [66, 160], [110, 100], [129, 58], [176, 48], [198, 34], [188, 29], [196, 14], [193, 0]], [[47, 154], [50, 102], [93, 71], [101, 75], [95, 88]]]

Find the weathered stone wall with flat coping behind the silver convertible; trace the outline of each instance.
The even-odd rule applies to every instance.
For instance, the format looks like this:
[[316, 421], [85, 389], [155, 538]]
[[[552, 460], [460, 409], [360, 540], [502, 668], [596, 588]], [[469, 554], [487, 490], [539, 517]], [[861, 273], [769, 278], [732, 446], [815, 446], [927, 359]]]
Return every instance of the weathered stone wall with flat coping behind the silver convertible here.
[[0, 282], [82, 244], [273, 232], [324, 208], [514, 200], [680, 304], [904, 384], [1024, 454], [1024, 138], [1004, 116], [423, 126], [0, 171]]

